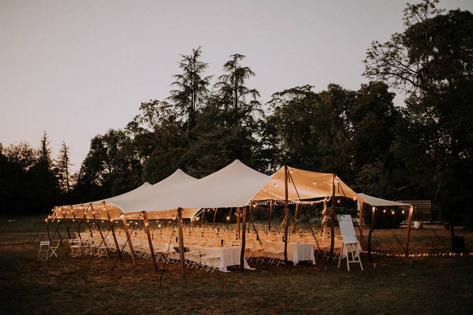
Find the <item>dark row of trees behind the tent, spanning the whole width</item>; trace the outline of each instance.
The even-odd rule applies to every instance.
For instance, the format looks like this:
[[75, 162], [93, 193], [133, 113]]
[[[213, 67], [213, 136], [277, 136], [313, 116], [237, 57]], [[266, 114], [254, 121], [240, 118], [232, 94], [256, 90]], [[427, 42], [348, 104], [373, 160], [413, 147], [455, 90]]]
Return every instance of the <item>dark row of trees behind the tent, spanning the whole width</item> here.
[[[169, 97], [139, 105], [122, 129], [91, 140], [75, 174], [68, 147], [0, 146], [3, 213], [44, 212], [154, 184], [181, 168], [201, 178], [238, 158], [270, 174], [280, 165], [337, 173], [356, 191], [387, 199], [437, 199], [445, 219], [468, 218], [473, 167], [473, 15], [409, 4], [403, 32], [366, 51], [358, 90], [310, 84], [261, 103], [256, 74], [234, 54], [207, 73], [202, 48], [181, 55]], [[212, 83], [213, 82], [213, 83]], [[395, 106], [403, 92], [405, 106]]]

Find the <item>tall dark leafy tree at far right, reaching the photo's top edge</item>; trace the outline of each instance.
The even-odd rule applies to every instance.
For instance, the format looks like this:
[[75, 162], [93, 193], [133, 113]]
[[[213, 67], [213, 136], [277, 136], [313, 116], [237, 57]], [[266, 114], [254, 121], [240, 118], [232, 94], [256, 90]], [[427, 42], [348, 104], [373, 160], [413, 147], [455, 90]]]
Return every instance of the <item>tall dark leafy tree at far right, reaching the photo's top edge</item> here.
[[[407, 4], [405, 31], [386, 43], [372, 42], [365, 59], [365, 76], [406, 91], [409, 121], [398, 147], [422, 148], [427, 185], [450, 217], [469, 204], [473, 180], [473, 14], [450, 10], [443, 14], [438, 0]], [[415, 161], [405, 160], [406, 165]]]

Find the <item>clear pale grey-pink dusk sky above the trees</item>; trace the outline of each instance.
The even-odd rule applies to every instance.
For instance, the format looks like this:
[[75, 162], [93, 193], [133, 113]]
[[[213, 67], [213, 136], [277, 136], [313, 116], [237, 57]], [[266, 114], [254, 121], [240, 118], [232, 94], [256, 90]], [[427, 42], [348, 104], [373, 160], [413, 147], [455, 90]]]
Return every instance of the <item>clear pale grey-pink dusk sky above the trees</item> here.
[[[54, 155], [70, 146], [75, 171], [92, 137], [169, 96], [179, 54], [198, 46], [207, 75], [246, 55], [263, 102], [304, 84], [358, 89], [370, 42], [403, 31], [405, 2], [0, 0], [0, 142], [37, 147], [46, 130]], [[473, 0], [439, 7], [473, 11]]]

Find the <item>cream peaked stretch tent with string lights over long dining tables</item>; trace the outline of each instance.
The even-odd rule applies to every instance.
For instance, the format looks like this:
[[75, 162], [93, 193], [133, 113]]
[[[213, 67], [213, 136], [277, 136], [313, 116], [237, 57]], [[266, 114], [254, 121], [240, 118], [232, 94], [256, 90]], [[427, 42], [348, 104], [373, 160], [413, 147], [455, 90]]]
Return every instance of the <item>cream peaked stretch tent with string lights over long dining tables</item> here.
[[[235, 160], [202, 179], [178, 169], [154, 185], [144, 183], [111, 198], [57, 206], [45, 221], [50, 242], [56, 234], [63, 241], [65, 237], [59, 233], [59, 227], [65, 224], [71, 256], [90, 255], [92, 259], [118, 252], [117, 263], [127, 253], [134, 264], [137, 259], [152, 260], [156, 270], [159, 262], [164, 266], [170, 262], [180, 264], [185, 277], [186, 266], [225, 272], [230, 266], [250, 269], [248, 261], [276, 266], [288, 261], [294, 265], [301, 261], [315, 264], [317, 256], [340, 261], [347, 255], [342, 251], [344, 240], [335, 229], [335, 200], [340, 197], [358, 202], [360, 240], [363, 203], [373, 206], [373, 214], [376, 206], [409, 206], [356, 193], [336, 174], [283, 166], [268, 176]], [[271, 219], [268, 227], [257, 227], [251, 216], [252, 208], [267, 206], [271, 218], [276, 203], [284, 205], [282, 228], [271, 229]], [[330, 212], [330, 231], [328, 227], [324, 233], [315, 231], [307, 220], [309, 229], [297, 232], [299, 207], [305, 212], [305, 205], [315, 203], [323, 203], [324, 211]], [[295, 205], [291, 228], [289, 204]], [[229, 211], [228, 223], [233, 212], [237, 228], [230, 228], [228, 223], [216, 225], [215, 219], [211, 225], [199, 224], [206, 210], [214, 211], [215, 218], [217, 209]], [[407, 249], [411, 214], [412, 208]], [[50, 232], [53, 222], [54, 233]], [[361, 245], [357, 247], [361, 251]]]

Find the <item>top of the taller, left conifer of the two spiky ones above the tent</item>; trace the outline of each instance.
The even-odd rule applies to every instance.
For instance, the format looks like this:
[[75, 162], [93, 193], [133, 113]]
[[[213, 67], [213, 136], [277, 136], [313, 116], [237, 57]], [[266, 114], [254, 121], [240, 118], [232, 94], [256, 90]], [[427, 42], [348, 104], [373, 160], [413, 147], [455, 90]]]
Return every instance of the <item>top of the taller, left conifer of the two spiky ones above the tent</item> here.
[[171, 84], [178, 89], [170, 91], [169, 99], [174, 102], [183, 116], [189, 118], [188, 129], [195, 126], [197, 110], [208, 92], [207, 86], [212, 78], [212, 76], [202, 76], [208, 63], [199, 60], [201, 54], [202, 50], [199, 46], [193, 49], [190, 55], [180, 55], [182, 59], [178, 64], [182, 73], [173, 75], [176, 81]]

